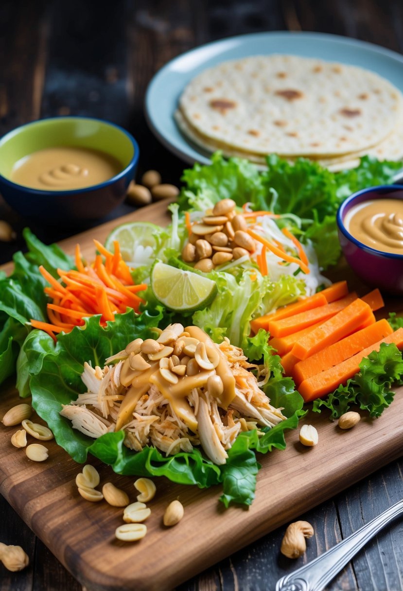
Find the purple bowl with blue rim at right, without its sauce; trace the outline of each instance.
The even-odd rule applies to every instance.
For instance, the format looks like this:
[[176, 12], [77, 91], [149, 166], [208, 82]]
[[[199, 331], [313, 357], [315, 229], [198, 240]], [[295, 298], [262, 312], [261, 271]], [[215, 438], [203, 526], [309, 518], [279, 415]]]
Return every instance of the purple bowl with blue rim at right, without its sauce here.
[[403, 255], [366, 246], [347, 232], [344, 225], [345, 217], [353, 206], [374, 199], [403, 200], [403, 185], [369, 187], [347, 197], [337, 212], [340, 244], [348, 264], [365, 283], [392, 294], [403, 294]]

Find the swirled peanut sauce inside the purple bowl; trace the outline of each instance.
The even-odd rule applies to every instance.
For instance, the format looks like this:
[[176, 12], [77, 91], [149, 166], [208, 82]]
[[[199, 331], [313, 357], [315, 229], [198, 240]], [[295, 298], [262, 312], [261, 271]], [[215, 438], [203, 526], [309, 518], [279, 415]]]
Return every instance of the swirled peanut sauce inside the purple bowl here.
[[403, 200], [374, 199], [359, 203], [347, 213], [345, 226], [366, 246], [403, 255]]

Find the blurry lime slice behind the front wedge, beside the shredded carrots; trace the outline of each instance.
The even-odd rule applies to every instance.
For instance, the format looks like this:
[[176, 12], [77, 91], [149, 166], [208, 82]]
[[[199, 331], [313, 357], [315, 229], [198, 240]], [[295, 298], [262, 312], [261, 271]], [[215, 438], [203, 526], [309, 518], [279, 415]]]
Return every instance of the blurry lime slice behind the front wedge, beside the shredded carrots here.
[[160, 248], [161, 233], [164, 229], [150, 222], [127, 222], [116, 226], [105, 241], [105, 247], [113, 252], [113, 242], [117, 240], [122, 257], [136, 265], [147, 264], [145, 259], [155, 259]]

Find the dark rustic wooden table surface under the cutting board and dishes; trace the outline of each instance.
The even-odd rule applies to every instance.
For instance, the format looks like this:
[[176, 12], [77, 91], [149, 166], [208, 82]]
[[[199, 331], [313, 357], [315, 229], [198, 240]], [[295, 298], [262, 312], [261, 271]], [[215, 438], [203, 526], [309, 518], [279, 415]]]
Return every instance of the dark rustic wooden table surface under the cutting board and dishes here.
[[[234, 34], [272, 30], [349, 35], [403, 52], [403, 4], [400, 0], [337, 4], [321, 0], [118, 0], [90, 6], [80, 0], [3, 0], [0, 135], [45, 116], [71, 114], [109, 119], [138, 139], [139, 174], [155, 167], [163, 173], [165, 182], [177, 184], [184, 165], [151, 135], [142, 111], [152, 75], [192, 47]], [[131, 210], [124, 204], [113, 215]], [[0, 219], [8, 220], [17, 231], [14, 242], [0, 243], [2, 263], [22, 248], [21, 230], [29, 222], [8, 209], [1, 197]], [[45, 242], [74, 233], [74, 229], [60, 229], [58, 220], [51, 229], [32, 223], [30, 226]], [[392, 462], [301, 516], [316, 531], [304, 558], [291, 562], [280, 555], [285, 529], [280, 528], [184, 583], [180, 591], [274, 589], [280, 576], [316, 557], [401, 499], [402, 471], [403, 460]], [[403, 589], [402, 531], [401, 521], [383, 530], [328, 589]], [[21, 544], [30, 556], [30, 567], [21, 573], [9, 573], [0, 566], [0, 591], [80, 589], [1, 496], [0, 540]]]

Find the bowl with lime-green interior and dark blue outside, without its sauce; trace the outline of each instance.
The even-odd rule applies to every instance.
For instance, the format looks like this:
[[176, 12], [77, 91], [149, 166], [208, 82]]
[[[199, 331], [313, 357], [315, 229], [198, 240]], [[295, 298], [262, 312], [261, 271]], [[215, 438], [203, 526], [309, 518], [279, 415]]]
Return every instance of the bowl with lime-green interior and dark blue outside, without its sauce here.
[[[56, 146], [106, 152], [121, 163], [121, 171], [103, 183], [66, 191], [31, 189], [10, 180], [18, 160]], [[40, 222], [66, 225], [100, 219], [125, 199], [138, 158], [134, 137], [118, 125], [89, 117], [41, 119], [0, 140], [0, 193], [15, 211]]]

